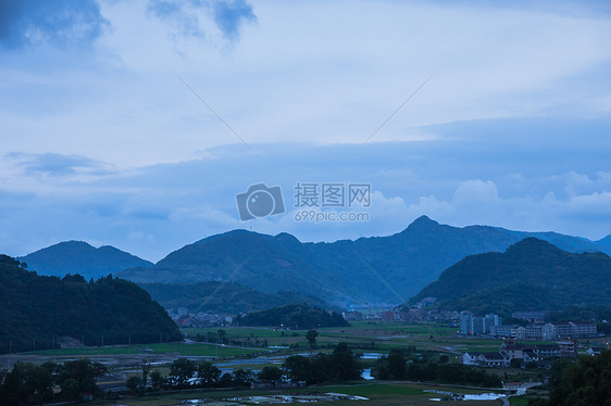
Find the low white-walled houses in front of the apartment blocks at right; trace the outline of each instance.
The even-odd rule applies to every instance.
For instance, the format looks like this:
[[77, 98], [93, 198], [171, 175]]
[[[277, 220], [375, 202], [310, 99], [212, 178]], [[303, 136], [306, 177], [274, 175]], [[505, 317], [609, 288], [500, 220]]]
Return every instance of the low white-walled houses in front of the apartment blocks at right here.
[[[589, 347], [588, 355], [600, 354], [604, 347]], [[577, 356], [577, 342], [563, 340], [554, 344], [524, 344], [506, 339], [498, 352], [467, 352], [462, 355], [462, 364], [487, 368], [525, 367], [532, 364], [538, 368], [550, 368], [554, 358], [574, 358]]]

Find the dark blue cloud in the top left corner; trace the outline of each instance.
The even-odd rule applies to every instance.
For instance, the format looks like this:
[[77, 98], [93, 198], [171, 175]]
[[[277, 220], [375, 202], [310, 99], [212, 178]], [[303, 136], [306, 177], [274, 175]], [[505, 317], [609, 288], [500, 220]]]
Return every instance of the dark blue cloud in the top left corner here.
[[87, 46], [110, 23], [95, 0], [1, 0], [0, 46]]

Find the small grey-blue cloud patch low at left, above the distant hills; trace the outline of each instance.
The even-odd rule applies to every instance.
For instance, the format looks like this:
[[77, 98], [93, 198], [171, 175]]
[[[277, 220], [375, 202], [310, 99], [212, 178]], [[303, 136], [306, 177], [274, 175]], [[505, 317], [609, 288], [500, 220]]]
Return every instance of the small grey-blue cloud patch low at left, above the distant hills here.
[[27, 175], [66, 176], [66, 175], [105, 175], [104, 164], [80, 155], [62, 155], [54, 153], [26, 154], [11, 152], [5, 155], [15, 161]]

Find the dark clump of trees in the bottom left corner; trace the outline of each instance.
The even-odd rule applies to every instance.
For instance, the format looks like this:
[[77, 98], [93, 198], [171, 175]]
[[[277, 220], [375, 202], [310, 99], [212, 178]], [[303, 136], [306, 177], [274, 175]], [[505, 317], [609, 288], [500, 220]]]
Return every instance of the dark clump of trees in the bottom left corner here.
[[100, 392], [96, 380], [107, 371], [105, 366], [87, 358], [65, 364], [17, 363], [10, 372], [0, 371], [0, 405], [41, 405], [95, 396]]

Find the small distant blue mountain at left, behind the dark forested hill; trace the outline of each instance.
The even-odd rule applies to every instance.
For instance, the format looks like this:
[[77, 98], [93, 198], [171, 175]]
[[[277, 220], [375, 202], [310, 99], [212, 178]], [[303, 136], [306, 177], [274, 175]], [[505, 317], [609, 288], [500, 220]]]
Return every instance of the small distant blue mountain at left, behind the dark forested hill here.
[[126, 268], [151, 267], [151, 262], [135, 255], [103, 245], [99, 249], [84, 241], [64, 241], [32, 254], [17, 257], [29, 269], [39, 275], [63, 277], [66, 274], [79, 274], [87, 280], [98, 279]]

